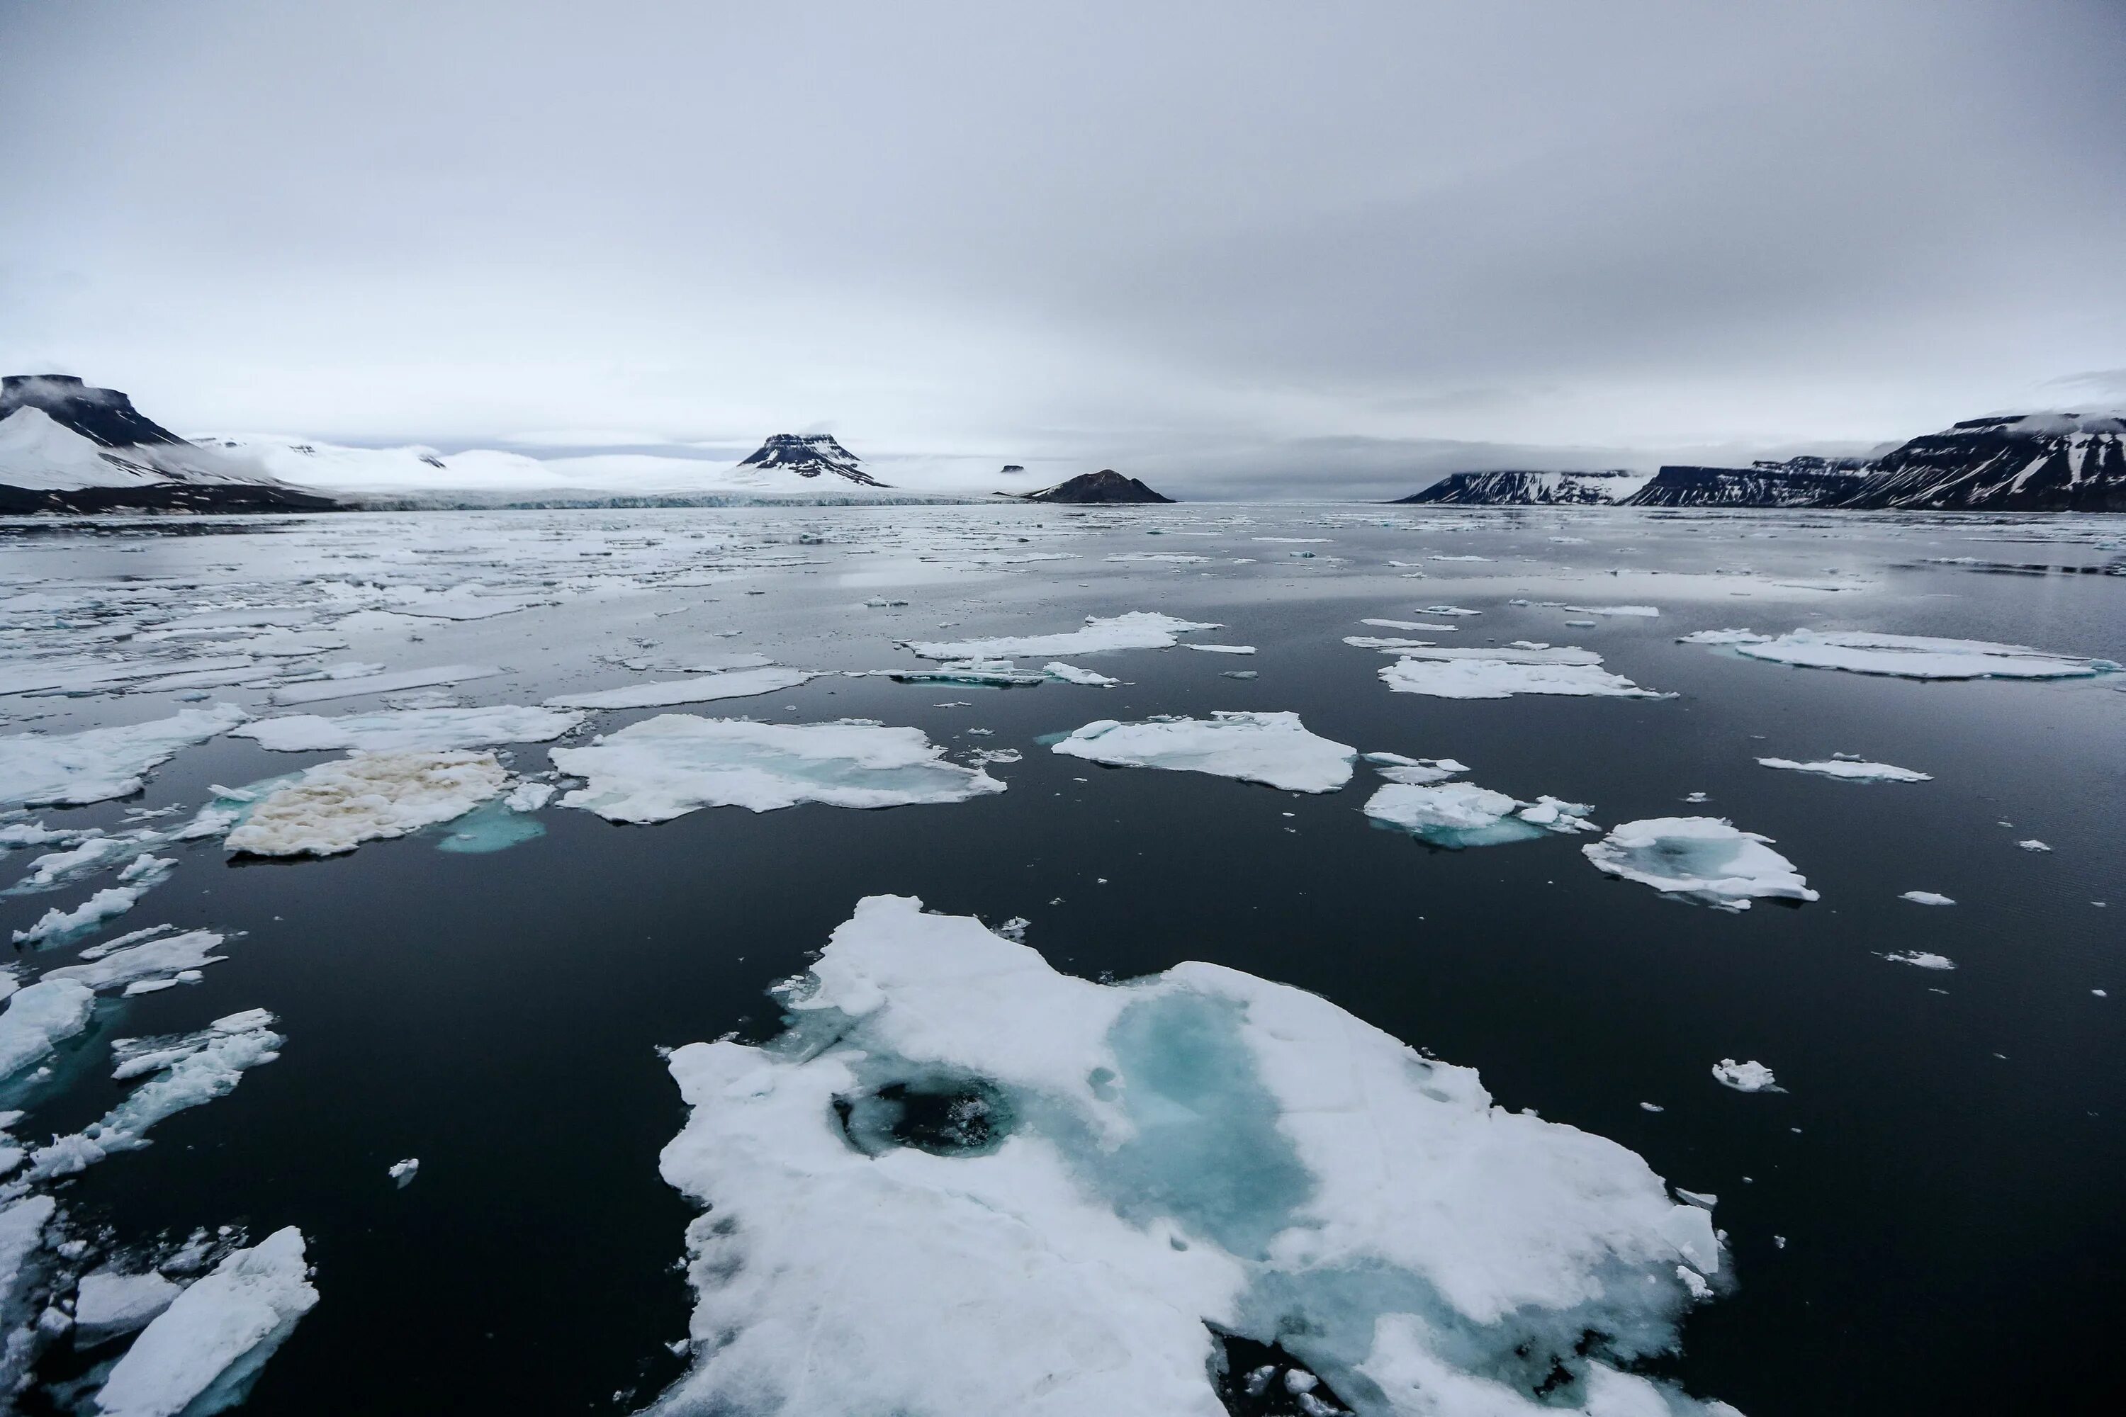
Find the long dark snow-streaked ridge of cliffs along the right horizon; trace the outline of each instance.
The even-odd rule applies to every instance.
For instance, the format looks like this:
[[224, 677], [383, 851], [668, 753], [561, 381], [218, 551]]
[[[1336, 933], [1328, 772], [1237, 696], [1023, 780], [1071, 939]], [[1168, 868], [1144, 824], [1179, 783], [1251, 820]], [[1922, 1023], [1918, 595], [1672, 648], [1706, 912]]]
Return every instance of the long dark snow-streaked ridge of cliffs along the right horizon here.
[[[1403, 501], [1461, 506], [2126, 512], [2126, 412], [1967, 419], [1875, 459], [1667, 465], [1641, 484], [1594, 472], [1458, 472]], [[1626, 491], [1629, 489], [1629, 491]]]

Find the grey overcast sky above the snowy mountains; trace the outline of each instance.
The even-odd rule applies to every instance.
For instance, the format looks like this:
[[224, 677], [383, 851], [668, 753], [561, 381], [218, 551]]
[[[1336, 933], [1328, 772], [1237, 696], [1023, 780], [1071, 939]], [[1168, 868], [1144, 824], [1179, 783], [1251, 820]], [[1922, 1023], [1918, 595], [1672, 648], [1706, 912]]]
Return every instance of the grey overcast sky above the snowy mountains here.
[[0, 0], [0, 370], [1324, 491], [1873, 444], [2126, 402], [2122, 72], [2122, 0]]

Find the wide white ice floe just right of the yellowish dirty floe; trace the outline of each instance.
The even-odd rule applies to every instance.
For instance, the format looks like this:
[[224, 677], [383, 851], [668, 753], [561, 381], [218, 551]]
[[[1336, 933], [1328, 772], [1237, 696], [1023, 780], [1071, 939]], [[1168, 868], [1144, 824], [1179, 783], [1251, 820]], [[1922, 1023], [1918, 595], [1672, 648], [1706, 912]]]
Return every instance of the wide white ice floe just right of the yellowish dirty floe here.
[[876, 722], [750, 722], [659, 714], [587, 748], [555, 748], [553, 763], [587, 786], [563, 807], [608, 822], [668, 822], [702, 807], [774, 812], [797, 803], [901, 807], [959, 803], [1003, 784], [944, 761], [923, 729]]

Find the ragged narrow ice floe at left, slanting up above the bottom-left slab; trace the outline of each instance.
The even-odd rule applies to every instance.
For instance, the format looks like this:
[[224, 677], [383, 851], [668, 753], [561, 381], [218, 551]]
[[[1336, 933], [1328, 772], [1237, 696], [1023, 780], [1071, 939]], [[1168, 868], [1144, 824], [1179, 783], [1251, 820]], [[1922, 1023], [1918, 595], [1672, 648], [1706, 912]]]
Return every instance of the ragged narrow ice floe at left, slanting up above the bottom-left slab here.
[[147, 1081], [102, 1120], [38, 1147], [28, 1177], [47, 1181], [77, 1175], [119, 1151], [138, 1151], [149, 1145], [147, 1132], [157, 1122], [227, 1096], [244, 1071], [281, 1056], [287, 1039], [274, 1032], [274, 1022], [266, 1009], [244, 1009], [217, 1018], [200, 1032], [115, 1041], [111, 1054], [117, 1066], [111, 1077], [128, 1081], [145, 1075]]

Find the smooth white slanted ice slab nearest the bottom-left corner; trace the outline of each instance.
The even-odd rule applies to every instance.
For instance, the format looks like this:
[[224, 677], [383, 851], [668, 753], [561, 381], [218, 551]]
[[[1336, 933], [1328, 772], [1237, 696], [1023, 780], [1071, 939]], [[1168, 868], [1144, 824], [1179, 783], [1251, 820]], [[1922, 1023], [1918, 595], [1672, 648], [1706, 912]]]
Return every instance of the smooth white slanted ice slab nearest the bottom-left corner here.
[[317, 1285], [296, 1226], [230, 1251], [140, 1330], [96, 1394], [96, 1411], [179, 1417], [236, 1406], [315, 1304]]

